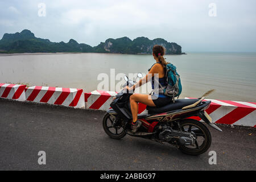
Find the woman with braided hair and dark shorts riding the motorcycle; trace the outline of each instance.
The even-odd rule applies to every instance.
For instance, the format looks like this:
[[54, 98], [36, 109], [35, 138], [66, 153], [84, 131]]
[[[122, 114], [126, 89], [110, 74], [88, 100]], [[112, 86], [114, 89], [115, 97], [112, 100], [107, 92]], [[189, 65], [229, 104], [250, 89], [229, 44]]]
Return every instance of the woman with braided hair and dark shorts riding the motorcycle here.
[[[164, 87], [167, 85], [167, 81], [165, 78], [166, 73], [166, 60], [164, 59], [164, 47], [155, 45], [152, 49], [152, 55], [156, 61], [155, 64], [152, 65], [152, 67], [148, 70], [146, 76], [144, 76], [139, 82], [137, 82], [135, 85], [129, 87], [126, 86], [126, 89], [131, 92], [131, 90], [135, 90], [135, 88], [138, 88], [142, 84], [148, 82], [151, 80], [152, 82], [152, 89], [154, 89], [154, 76], [159, 77], [159, 83]], [[158, 74], [158, 75], [155, 75]], [[151, 79], [150, 79], [151, 78]], [[159, 85], [160, 86], [160, 85]], [[131, 113], [133, 115], [133, 122], [131, 125], [131, 131], [135, 133], [139, 127], [141, 126], [141, 121], [138, 121], [138, 102], [141, 102], [142, 104], [148, 105], [148, 106], [156, 106], [161, 107], [169, 102], [171, 102], [171, 98], [168, 96], [165, 96], [164, 94], [152, 94], [151, 96], [148, 94], [133, 94], [130, 97], [130, 105], [131, 105]]]

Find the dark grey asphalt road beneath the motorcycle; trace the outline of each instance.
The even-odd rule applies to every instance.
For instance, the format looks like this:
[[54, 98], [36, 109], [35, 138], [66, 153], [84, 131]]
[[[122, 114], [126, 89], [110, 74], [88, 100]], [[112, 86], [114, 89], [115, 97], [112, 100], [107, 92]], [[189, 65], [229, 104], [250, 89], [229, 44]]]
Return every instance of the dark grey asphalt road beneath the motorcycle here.
[[[104, 112], [0, 99], [1, 170], [256, 170], [256, 130], [219, 126], [200, 156], [126, 135], [114, 140], [102, 128]], [[46, 165], [38, 152], [46, 152]], [[209, 151], [217, 164], [210, 165]]]

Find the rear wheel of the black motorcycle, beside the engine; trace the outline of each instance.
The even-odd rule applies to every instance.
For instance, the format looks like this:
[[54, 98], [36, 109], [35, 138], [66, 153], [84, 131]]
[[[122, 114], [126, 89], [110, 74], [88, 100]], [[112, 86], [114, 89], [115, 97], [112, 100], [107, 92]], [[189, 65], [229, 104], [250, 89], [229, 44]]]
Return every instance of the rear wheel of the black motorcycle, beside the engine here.
[[[180, 122], [180, 127], [183, 131], [195, 131], [197, 136], [196, 146], [180, 146], [179, 150], [189, 155], [200, 155], [206, 152], [210, 148], [212, 143], [212, 136], [209, 129], [201, 122], [195, 119], [184, 119]], [[200, 145], [198, 139], [204, 138], [203, 143]]]

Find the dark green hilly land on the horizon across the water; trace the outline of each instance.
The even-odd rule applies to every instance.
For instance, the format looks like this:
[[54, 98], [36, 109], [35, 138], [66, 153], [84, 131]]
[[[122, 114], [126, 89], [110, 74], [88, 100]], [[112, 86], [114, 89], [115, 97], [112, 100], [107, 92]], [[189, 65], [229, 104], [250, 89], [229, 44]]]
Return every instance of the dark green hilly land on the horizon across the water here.
[[22, 53], [22, 52], [99, 52], [99, 53], [127, 53], [127, 54], [151, 54], [152, 47], [162, 45], [166, 48], [168, 55], [180, 55], [181, 46], [169, 43], [164, 39], [150, 40], [139, 37], [131, 40], [127, 37], [118, 39], [107, 39], [98, 46], [92, 47], [88, 44], [79, 44], [70, 39], [68, 43], [51, 42], [48, 39], [36, 38], [30, 30], [20, 33], [5, 34], [0, 40], [0, 53]]

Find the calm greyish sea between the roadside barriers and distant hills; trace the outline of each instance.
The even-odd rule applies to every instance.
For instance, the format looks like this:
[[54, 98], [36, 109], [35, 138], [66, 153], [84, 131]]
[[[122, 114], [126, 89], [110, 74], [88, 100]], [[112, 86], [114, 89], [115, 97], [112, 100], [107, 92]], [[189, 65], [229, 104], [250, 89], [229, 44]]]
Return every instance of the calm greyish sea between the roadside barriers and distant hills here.
[[[256, 102], [256, 53], [188, 53], [165, 57], [176, 65], [181, 76], [181, 97], [200, 97], [209, 89], [216, 89], [209, 98]], [[147, 73], [154, 63], [151, 55], [2, 55], [0, 82], [82, 88], [91, 92], [101, 82], [97, 80], [98, 74], [110, 76], [110, 68], [115, 68], [115, 75]]]

